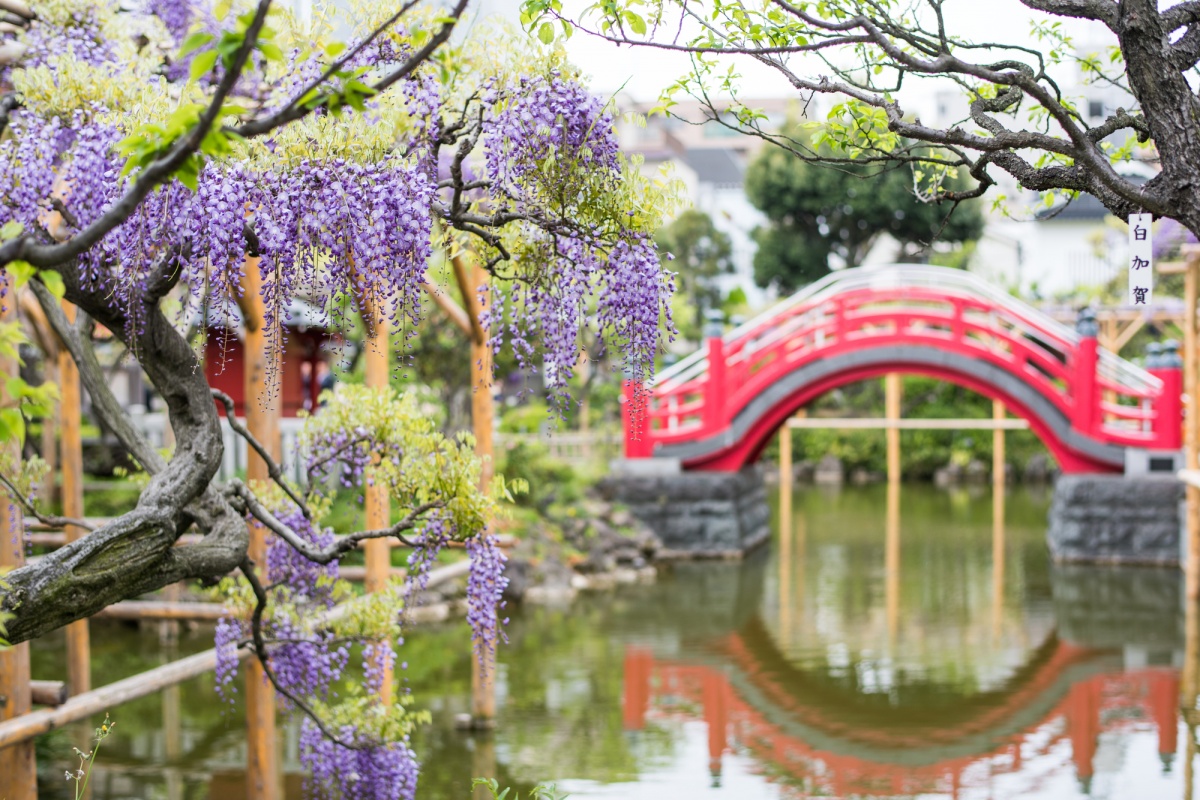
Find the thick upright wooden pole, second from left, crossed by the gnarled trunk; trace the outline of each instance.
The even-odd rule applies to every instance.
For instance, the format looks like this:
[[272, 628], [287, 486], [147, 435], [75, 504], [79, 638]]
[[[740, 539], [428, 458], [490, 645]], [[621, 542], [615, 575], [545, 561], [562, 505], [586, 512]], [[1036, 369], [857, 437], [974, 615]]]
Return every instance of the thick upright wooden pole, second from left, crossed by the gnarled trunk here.
[[[62, 311], [72, 323], [74, 306], [64, 301]], [[83, 518], [83, 404], [80, 402], [79, 369], [66, 348], [59, 348], [59, 432], [61, 450], [59, 464], [62, 471], [62, 516]], [[67, 542], [86, 535], [86, 530], [67, 525], [64, 530]], [[71, 622], [67, 636], [67, 684], [72, 694], [91, 690], [91, 639], [88, 620]]]

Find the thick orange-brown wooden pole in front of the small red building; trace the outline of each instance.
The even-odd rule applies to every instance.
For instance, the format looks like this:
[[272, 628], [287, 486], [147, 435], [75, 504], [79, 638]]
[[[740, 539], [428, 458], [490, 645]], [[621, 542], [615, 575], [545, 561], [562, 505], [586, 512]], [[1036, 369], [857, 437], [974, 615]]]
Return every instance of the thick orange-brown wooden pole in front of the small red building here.
[[[247, 258], [242, 277], [240, 305], [246, 329], [245, 338], [245, 414], [246, 428], [278, 461], [280, 396], [271, 391], [269, 377], [277, 372], [278, 351], [269, 347], [264, 330], [263, 281], [258, 270], [258, 258]], [[274, 361], [274, 363], [272, 363]], [[270, 480], [266, 463], [247, 451], [246, 480], [256, 482]], [[250, 559], [256, 570], [266, 569], [266, 531], [253, 523], [250, 527]], [[257, 658], [246, 667], [246, 798], [247, 800], [278, 800], [280, 775], [276, 754], [275, 690], [266, 682], [263, 664]]]

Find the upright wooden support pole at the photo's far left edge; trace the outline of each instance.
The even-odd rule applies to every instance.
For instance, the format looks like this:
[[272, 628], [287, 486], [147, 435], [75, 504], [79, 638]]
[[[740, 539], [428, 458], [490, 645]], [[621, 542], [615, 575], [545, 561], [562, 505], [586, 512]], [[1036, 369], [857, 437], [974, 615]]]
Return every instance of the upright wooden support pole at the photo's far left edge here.
[[[16, 320], [16, 307], [12, 299], [2, 312], [0, 321]], [[0, 378], [16, 378], [19, 374], [17, 360], [0, 356]], [[7, 402], [8, 393], [0, 380], [0, 401]], [[20, 441], [16, 437], [0, 441], [8, 458], [16, 462], [20, 458]], [[8, 501], [0, 503], [0, 567], [17, 569], [25, 563], [24, 523], [20, 509]], [[12, 724], [28, 716], [32, 708], [29, 673], [29, 643], [22, 642], [6, 650], [0, 650], [0, 727]], [[0, 776], [4, 778], [2, 794], [5, 800], [36, 800], [37, 769], [34, 763], [34, 742], [23, 741], [13, 747], [4, 747], [0, 741]]]

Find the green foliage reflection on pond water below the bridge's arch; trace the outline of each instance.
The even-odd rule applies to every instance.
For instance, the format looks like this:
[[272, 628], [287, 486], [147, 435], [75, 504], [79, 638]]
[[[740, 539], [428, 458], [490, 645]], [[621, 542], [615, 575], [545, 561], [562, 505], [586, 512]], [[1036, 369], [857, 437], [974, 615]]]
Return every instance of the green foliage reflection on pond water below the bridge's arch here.
[[904, 487], [893, 608], [884, 494], [882, 486], [797, 494], [793, 564], [768, 570], [764, 624], [790, 658], [856, 691], [888, 697], [898, 684], [928, 682], [973, 694], [1002, 686], [1054, 630], [1044, 499], [1008, 498], [997, 613], [990, 499]]

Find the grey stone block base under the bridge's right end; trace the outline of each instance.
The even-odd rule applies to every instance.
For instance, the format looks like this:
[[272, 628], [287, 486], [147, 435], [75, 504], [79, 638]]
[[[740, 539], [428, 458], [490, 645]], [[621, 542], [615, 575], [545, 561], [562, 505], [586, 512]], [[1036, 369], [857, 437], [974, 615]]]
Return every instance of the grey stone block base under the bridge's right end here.
[[1174, 477], [1062, 475], [1046, 540], [1056, 561], [1180, 563], [1180, 504]]

